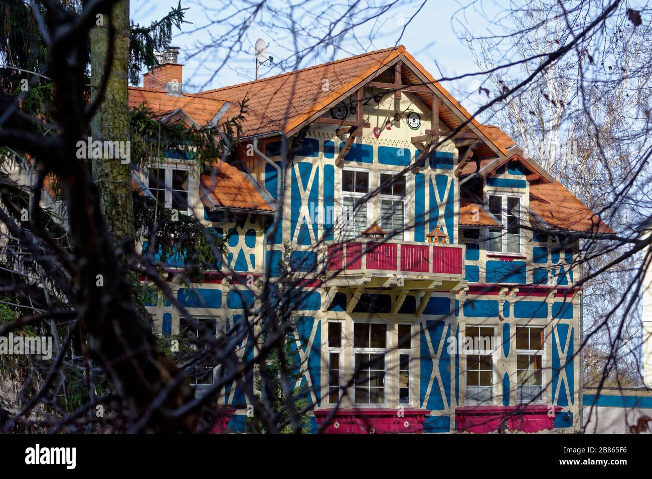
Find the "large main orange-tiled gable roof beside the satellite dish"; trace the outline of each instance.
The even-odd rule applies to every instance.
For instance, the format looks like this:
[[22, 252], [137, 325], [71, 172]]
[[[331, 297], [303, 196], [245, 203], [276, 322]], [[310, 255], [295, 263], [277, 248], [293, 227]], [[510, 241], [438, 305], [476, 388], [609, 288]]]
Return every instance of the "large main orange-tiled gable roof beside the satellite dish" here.
[[479, 154], [507, 154], [507, 149], [494, 143], [484, 126], [472, 119], [471, 114], [409, 55], [404, 46], [372, 51], [199, 95], [232, 98], [233, 104], [226, 117], [235, 117], [240, 111], [240, 102], [246, 99], [241, 138], [263, 134], [292, 136], [399, 61], [404, 83], [421, 88], [417, 94], [429, 109], [433, 108], [434, 96], [439, 98], [439, 118], [445, 126], [454, 129], [467, 122], [466, 132], [477, 135], [482, 141]]

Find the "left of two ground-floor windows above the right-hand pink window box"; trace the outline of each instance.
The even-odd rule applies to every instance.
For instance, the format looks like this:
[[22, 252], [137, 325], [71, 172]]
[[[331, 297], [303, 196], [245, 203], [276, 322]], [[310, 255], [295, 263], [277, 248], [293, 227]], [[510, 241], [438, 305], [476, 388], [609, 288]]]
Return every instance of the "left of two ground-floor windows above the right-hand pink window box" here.
[[494, 328], [469, 326], [465, 336], [464, 349], [470, 347], [466, 353], [466, 400], [491, 402], [494, 399]]

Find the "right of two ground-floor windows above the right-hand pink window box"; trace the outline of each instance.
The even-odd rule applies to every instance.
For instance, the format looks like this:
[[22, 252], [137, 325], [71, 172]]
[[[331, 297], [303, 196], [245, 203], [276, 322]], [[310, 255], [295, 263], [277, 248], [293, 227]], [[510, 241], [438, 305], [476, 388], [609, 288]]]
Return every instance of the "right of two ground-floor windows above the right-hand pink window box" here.
[[516, 328], [516, 399], [524, 403], [542, 399], [543, 330], [531, 326]]

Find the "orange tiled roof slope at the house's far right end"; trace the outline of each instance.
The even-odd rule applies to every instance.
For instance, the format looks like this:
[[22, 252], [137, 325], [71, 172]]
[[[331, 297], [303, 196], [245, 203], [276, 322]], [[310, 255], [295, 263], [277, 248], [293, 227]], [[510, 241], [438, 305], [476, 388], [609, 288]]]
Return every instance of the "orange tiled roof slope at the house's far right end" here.
[[584, 233], [614, 233], [563, 184], [530, 184], [529, 208], [552, 229]]

